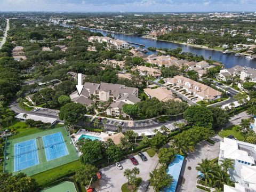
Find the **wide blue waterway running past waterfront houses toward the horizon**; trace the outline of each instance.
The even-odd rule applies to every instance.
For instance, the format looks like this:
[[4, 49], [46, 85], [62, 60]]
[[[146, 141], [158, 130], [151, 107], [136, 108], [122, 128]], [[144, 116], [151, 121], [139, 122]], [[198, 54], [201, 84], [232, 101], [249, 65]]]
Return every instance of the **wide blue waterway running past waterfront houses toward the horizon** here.
[[[63, 25], [66, 27], [70, 27], [67, 25]], [[98, 30], [98, 29], [86, 29], [84, 27], [80, 27], [83, 30], [90, 30], [92, 32], [99, 32], [106, 36], [108, 32]], [[225, 68], [231, 68], [235, 65], [256, 68], [256, 60], [246, 59], [245, 57], [236, 57], [234, 54], [223, 54], [221, 51], [209, 51], [201, 47], [193, 47], [189, 45], [179, 44], [179, 43], [172, 43], [172, 42], [164, 42], [164, 41], [157, 41], [155, 39], [148, 39], [142, 38], [138, 35], [124, 35], [124, 34], [111, 34], [113, 37], [117, 39], [122, 39], [127, 42], [133, 42], [138, 44], [143, 44], [146, 47], [157, 47], [157, 48], [169, 48], [175, 49], [177, 47], [181, 47], [182, 52], [190, 52], [197, 55], [203, 55], [205, 59], [213, 59], [216, 61], [220, 61], [223, 63]], [[148, 52], [151, 54], [153, 52]]]

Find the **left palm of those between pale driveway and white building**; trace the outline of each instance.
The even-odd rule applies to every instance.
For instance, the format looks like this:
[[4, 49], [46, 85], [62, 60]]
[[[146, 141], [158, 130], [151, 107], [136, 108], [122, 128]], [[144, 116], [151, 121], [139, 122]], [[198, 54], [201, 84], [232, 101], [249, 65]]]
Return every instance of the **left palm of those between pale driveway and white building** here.
[[[213, 172], [212, 172], [213, 165], [211, 161], [208, 160], [207, 158], [202, 159], [202, 163], [198, 163], [197, 165], [199, 166], [196, 167], [196, 170], [200, 171], [203, 174], [205, 179], [205, 189], [206, 189], [207, 183], [209, 182], [211, 183], [213, 179]], [[200, 177], [200, 175], [198, 175], [197, 178], [198, 177]]]

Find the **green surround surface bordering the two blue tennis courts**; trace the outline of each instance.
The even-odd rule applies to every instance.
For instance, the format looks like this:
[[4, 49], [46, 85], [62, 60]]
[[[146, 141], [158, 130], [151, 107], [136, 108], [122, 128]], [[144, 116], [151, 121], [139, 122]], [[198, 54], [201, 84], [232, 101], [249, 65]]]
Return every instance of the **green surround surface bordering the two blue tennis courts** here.
[[[28, 129], [28, 130], [30, 130], [30, 129]], [[14, 155], [14, 144], [22, 142], [22, 141], [27, 141], [30, 139], [35, 139], [37, 137], [41, 137], [40, 139], [36, 139], [36, 145], [37, 145], [37, 148], [39, 148], [37, 150], [38, 157], [39, 157], [39, 164], [22, 170], [22, 172], [26, 173], [27, 175], [34, 175], [39, 172], [53, 169], [54, 167], [57, 167], [57, 166], [76, 161], [78, 159], [75, 146], [70, 143], [71, 139], [70, 139], [65, 127], [58, 127], [58, 128], [50, 129], [50, 130], [46, 130], [46, 131], [40, 130], [41, 132], [38, 131], [39, 129], [37, 129], [37, 130], [33, 129], [33, 130], [36, 132], [36, 134], [28, 134], [25, 137], [10, 138], [9, 140], [7, 140], [6, 155], [7, 155], [7, 157], [9, 157], [9, 159], [6, 160], [6, 162], [5, 162], [5, 171], [6, 172], [14, 171], [14, 158], [12, 157]], [[49, 135], [49, 134], [53, 134], [53, 133], [57, 133], [57, 132], [62, 133], [62, 136], [63, 136], [63, 139], [65, 140], [69, 154], [47, 162], [46, 157], [45, 157], [45, 150], [42, 148], [42, 146], [43, 146], [42, 137], [44, 135]], [[25, 134], [25, 133], [27, 134], [28, 132], [26, 132], [26, 131], [22, 132], [22, 134]], [[16, 135], [14, 135], [14, 136], [16, 136]], [[19, 172], [15, 172], [14, 174], [17, 174], [17, 173], [19, 173]]]

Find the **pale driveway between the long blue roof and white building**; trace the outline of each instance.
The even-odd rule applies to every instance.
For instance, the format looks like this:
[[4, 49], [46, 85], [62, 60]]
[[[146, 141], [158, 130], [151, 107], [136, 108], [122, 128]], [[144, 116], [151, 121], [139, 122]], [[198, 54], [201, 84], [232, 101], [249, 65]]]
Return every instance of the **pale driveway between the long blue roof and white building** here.
[[[208, 158], [213, 159], [219, 156], [220, 153], [220, 141], [223, 139], [216, 135], [212, 138], [215, 141], [214, 145], [211, 145], [207, 141], [199, 143], [194, 153], [190, 153], [185, 159], [181, 174], [180, 182], [178, 183], [177, 191], [190, 191], [190, 192], [200, 192], [202, 190], [196, 188], [197, 171], [196, 166], [198, 163], [202, 162], [202, 159]], [[188, 167], [191, 170], [188, 170]]]

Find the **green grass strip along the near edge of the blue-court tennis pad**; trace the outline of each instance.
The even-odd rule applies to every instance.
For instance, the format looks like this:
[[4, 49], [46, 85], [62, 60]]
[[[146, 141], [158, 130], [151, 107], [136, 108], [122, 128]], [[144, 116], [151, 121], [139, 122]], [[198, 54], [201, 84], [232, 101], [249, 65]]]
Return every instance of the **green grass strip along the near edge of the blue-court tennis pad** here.
[[55, 167], [54, 169], [35, 174], [31, 176], [31, 178], [35, 179], [40, 186], [43, 186], [46, 183], [63, 178], [66, 175], [75, 173], [75, 171], [81, 165], [81, 161], [77, 160], [71, 163], [67, 163], [65, 165]]

